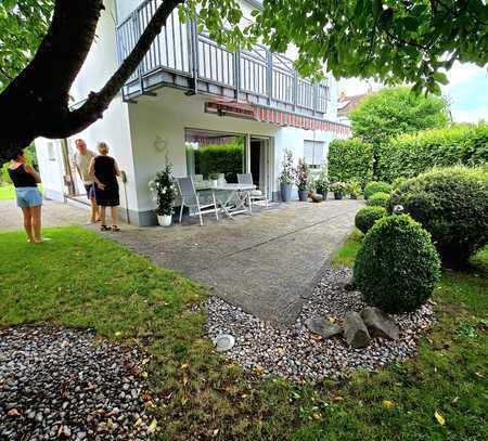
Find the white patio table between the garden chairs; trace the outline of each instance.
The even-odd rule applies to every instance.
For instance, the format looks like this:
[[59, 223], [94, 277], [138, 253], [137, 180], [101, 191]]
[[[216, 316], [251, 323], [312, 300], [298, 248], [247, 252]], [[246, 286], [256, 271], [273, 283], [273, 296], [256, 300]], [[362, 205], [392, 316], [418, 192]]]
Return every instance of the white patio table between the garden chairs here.
[[[233, 215], [239, 213], [253, 213], [251, 204], [251, 192], [256, 190], [256, 185], [252, 184], [229, 184], [229, 183], [218, 183], [217, 185], [211, 185], [207, 182], [195, 183], [195, 190], [197, 192], [208, 192], [210, 191], [214, 195], [216, 192], [227, 193], [223, 198], [216, 197], [218, 205], [222, 211], [230, 218], [233, 219]], [[245, 203], [247, 200], [247, 207]]]

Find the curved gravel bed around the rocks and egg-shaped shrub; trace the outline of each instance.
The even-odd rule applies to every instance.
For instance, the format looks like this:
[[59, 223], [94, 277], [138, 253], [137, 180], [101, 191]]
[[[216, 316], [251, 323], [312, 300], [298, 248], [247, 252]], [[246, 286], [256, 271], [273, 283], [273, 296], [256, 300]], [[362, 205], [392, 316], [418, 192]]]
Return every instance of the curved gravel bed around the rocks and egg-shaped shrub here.
[[401, 363], [416, 351], [416, 338], [435, 321], [434, 307], [427, 302], [414, 313], [391, 315], [400, 328], [398, 341], [374, 338], [364, 349], [349, 348], [342, 337], [322, 339], [305, 326], [307, 319], [332, 316], [341, 323], [350, 311], [360, 312], [365, 303], [358, 291], [347, 291], [351, 270], [331, 268], [307, 297], [300, 315], [291, 328], [277, 328], [240, 308], [211, 297], [207, 333], [210, 338], [231, 334], [235, 346], [224, 358], [258, 375], [278, 375], [293, 380], [343, 377], [350, 369], [374, 371]]

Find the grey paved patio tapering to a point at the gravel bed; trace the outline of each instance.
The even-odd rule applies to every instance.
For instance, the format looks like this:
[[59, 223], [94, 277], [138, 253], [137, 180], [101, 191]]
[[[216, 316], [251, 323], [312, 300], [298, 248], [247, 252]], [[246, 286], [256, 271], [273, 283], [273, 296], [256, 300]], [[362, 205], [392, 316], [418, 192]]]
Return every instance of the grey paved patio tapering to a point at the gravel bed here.
[[163, 228], [130, 228], [114, 239], [183, 273], [261, 320], [290, 325], [354, 224], [357, 200], [290, 203], [219, 222], [207, 216]]

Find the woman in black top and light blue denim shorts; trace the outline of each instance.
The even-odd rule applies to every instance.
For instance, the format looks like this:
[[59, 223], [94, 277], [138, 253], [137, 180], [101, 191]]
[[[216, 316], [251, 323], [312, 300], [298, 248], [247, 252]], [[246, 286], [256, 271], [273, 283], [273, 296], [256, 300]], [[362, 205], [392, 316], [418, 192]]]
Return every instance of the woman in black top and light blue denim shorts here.
[[17, 206], [24, 215], [24, 228], [27, 242], [36, 244], [42, 242], [41, 237], [41, 206], [42, 195], [37, 187], [41, 179], [33, 166], [27, 164], [24, 151], [18, 151], [12, 157], [9, 166], [9, 176], [15, 186]]

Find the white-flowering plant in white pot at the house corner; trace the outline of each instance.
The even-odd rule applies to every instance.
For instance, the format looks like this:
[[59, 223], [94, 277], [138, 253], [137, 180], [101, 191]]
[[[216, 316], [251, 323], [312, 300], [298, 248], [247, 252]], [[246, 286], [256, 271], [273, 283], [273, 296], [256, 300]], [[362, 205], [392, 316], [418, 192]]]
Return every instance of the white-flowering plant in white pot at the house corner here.
[[172, 205], [176, 197], [175, 180], [172, 178], [172, 165], [167, 163], [162, 171], [158, 171], [150, 183], [153, 199], [157, 204], [157, 222], [160, 226], [169, 226], [172, 219]]

